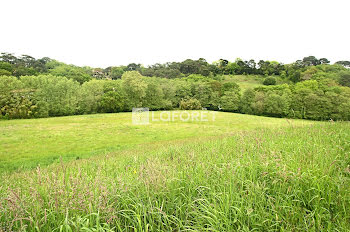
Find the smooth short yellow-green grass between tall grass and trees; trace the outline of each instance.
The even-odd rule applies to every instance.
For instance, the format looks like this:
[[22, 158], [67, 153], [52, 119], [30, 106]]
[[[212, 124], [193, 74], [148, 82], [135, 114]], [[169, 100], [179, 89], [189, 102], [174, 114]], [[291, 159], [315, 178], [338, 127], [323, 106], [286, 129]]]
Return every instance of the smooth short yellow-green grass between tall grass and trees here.
[[[160, 112], [150, 113], [151, 119], [152, 114], [154, 118], [160, 118]], [[163, 118], [166, 119], [166, 114]], [[0, 172], [30, 169], [38, 165], [43, 167], [59, 160], [108, 154], [142, 144], [315, 123], [223, 112], [208, 112], [207, 119], [204, 122], [197, 119], [184, 122], [177, 117], [170, 122], [133, 125], [131, 113], [117, 113], [0, 121]]]

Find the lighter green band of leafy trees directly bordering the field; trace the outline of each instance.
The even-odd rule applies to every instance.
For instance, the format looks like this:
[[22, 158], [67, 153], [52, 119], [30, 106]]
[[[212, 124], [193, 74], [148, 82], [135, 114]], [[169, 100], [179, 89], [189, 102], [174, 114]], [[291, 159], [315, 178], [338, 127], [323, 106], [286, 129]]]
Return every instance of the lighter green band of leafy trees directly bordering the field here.
[[118, 80], [79, 84], [63, 76], [2, 76], [1, 118], [37, 118], [150, 110], [222, 110], [273, 117], [350, 120], [350, 88], [334, 80], [259, 86], [241, 91], [229, 76], [192, 74], [183, 79], [127, 71]]

